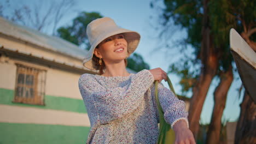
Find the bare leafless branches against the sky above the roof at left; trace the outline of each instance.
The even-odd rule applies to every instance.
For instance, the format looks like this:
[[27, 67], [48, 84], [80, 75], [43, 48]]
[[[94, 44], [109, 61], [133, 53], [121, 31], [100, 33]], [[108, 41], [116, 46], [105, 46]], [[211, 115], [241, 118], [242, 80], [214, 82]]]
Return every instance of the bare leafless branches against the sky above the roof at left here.
[[41, 32], [52, 29], [53, 35], [63, 16], [68, 14], [75, 4], [75, 1], [68, 0], [50, 1], [50, 3], [33, 1], [26, 4], [20, 1], [11, 2], [13, 3], [7, 0], [0, 5], [0, 16]]

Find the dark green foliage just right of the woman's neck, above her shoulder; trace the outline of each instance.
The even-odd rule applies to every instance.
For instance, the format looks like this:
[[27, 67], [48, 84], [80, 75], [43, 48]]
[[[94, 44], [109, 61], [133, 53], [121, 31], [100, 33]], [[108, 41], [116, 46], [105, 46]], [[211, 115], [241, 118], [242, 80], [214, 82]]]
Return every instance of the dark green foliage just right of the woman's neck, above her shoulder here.
[[143, 57], [138, 53], [133, 53], [130, 57], [127, 58], [127, 68], [137, 72], [143, 69], [150, 69], [149, 65], [144, 62]]

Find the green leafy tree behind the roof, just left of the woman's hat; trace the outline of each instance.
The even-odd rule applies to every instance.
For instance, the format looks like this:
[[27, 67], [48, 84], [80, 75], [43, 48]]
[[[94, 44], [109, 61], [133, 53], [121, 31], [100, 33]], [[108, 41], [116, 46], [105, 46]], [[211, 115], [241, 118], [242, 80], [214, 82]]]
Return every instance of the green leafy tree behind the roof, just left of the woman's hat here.
[[60, 27], [57, 29], [57, 35], [62, 39], [70, 41], [73, 44], [84, 47], [84, 49], [90, 49], [90, 43], [86, 35], [87, 25], [102, 16], [99, 13], [92, 12], [86, 13], [83, 11], [77, 17], [73, 19], [72, 26]]

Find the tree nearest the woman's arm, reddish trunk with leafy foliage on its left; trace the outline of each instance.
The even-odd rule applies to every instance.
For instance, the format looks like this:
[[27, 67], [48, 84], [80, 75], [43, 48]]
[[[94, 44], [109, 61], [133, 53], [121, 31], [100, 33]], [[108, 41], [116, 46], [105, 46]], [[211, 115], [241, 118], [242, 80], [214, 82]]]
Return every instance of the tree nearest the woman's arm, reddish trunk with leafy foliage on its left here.
[[[195, 76], [196, 80], [192, 85], [194, 86], [193, 96], [190, 100], [189, 109], [190, 129], [196, 138], [202, 106], [211, 81], [218, 69], [217, 47], [214, 46], [213, 35], [211, 35], [207, 7], [209, 1], [184, 2], [177, 0], [164, 2], [166, 6], [162, 14], [166, 21], [164, 24], [173, 19], [174, 25], [179, 25], [187, 30], [188, 37], [185, 39], [185, 43], [194, 47], [196, 59], [199, 59], [199, 61], [194, 60], [195, 63], [191, 63], [191, 66], [201, 65], [201, 72]], [[189, 63], [189, 61], [191, 59], [185, 59], [186, 63]]]

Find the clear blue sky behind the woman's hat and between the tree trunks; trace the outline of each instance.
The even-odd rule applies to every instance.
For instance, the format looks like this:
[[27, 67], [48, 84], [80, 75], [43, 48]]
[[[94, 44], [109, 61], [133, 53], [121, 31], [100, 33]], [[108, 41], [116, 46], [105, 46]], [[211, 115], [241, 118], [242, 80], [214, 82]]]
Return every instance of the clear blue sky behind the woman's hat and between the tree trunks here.
[[[154, 0], [153, 0], [154, 1]], [[19, 1], [20, 2], [20, 1]], [[24, 3], [30, 3], [33, 1], [25, 1]], [[51, 2], [51, 1], [48, 1]], [[146, 61], [150, 68], [162, 68], [163, 70], [168, 70], [168, 65], [177, 61], [179, 55], [178, 45], [175, 42], [178, 39], [185, 37], [185, 32], [181, 29], [176, 28], [176, 33], [173, 33], [173, 49], [165, 49], [161, 45], [160, 39], [158, 38], [157, 31], [153, 26], [157, 25], [158, 11], [156, 9], [151, 9], [149, 6], [150, 0], [129, 0], [129, 1], [117, 1], [117, 0], [81, 0], [77, 1], [74, 9], [71, 10], [62, 19], [59, 26], [66, 26], [72, 22], [72, 19], [78, 15], [79, 11], [86, 12], [98, 12], [102, 16], [111, 17], [118, 26], [130, 29], [132, 31], [137, 31], [141, 34], [141, 42], [135, 52], [143, 56], [144, 61]], [[161, 3], [160, 3], [161, 5]], [[151, 17], [151, 18], [150, 18]], [[191, 49], [187, 50], [191, 53]], [[174, 89], [179, 94], [181, 93], [181, 86], [178, 85], [179, 77], [170, 74], [170, 79], [172, 80]], [[236, 74], [235, 77], [238, 77]], [[167, 83], [163, 82], [167, 87]], [[203, 105], [203, 110], [201, 114], [202, 123], [210, 123], [211, 113], [213, 110], [213, 92], [215, 87], [218, 85], [218, 80], [214, 79], [212, 85], [208, 91], [205, 104]], [[226, 102], [226, 107], [224, 110], [223, 120], [224, 121], [235, 121], [240, 115], [240, 107], [242, 99], [238, 98], [238, 91], [236, 90], [241, 86], [241, 80], [239, 78], [234, 79], [231, 85], [230, 91], [228, 93], [228, 98]], [[191, 93], [187, 95], [191, 97]]]

